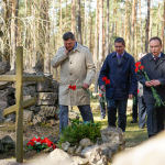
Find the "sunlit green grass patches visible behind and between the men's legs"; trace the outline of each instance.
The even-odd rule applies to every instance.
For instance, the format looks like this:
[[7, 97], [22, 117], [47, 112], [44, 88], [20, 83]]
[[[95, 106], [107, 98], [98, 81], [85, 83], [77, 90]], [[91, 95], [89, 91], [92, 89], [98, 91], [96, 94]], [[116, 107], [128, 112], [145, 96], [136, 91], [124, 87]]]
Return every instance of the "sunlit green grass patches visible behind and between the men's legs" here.
[[[100, 110], [97, 109], [99, 105], [96, 102], [91, 103], [92, 108], [92, 114], [94, 114], [94, 120], [95, 122], [101, 122], [101, 129], [106, 129], [108, 127], [108, 119], [106, 116], [106, 119], [100, 120]], [[78, 111], [77, 107], [74, 107], [75, 111]], [[125, 138], [125, 147], [130, 148], [133, 146], [136, 146], [141, 144], [142, 142], [147, 140], [147, 131], [146, 128], [144, 129], [139, 129], [138, 123], [131, 123], [132, 117], [131, 114], [128, 114], [127, 118], [127, 131], [124, 133]]]

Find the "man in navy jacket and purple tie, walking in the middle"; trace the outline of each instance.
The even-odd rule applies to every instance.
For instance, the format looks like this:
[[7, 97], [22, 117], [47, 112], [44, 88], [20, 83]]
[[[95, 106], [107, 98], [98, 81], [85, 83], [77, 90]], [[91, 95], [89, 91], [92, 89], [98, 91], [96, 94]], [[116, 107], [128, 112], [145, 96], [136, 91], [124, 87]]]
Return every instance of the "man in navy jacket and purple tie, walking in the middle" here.
[[[125, 42], [122, 37], [114, 41], [116, 52], [109, 54], [102, 65], [99, 86], [106, 90], [108, 124], [116, 127], [118, 109], [118, 127], [125, 132], [128, 98], [136, 94], [138, 81], [135, 78], [134, 58], [125, 52]], [[106, 85], [102, 77], [110, 79]]]

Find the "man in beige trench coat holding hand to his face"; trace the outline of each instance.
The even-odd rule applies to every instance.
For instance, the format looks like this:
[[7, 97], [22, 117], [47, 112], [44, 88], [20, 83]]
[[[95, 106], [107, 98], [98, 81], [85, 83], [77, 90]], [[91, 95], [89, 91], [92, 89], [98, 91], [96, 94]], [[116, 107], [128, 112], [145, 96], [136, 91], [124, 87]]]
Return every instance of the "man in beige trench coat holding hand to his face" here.
[[54, 68], [61, 66], [59, 82], [59, 133], [68, 124], [68, 106], [78, 106], [84, 121], [94, 121], [90, 95], [96, 67], [88, 47], [80, 45], [72, 32], [63, 35], [64, 46], [52, 59]]

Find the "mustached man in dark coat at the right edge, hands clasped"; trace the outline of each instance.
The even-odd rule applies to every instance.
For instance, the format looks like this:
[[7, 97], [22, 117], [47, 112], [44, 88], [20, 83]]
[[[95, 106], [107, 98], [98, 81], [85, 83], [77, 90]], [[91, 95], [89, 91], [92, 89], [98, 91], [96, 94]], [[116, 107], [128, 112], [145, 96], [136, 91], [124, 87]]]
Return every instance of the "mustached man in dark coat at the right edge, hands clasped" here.
[[164, 130], [165, 107], [156, 107], [151, 87], [154, 87], [161, 99], [165, 101], [165, 54], [161, 52], [162, 41], [155, 36], [150, 40], [151, 53], [141, 58], [150, 81], [144, 76], [136, 73], [138, 80], [143, 85], [144, 102], [147, 113], [147, 134], [148, 138]]

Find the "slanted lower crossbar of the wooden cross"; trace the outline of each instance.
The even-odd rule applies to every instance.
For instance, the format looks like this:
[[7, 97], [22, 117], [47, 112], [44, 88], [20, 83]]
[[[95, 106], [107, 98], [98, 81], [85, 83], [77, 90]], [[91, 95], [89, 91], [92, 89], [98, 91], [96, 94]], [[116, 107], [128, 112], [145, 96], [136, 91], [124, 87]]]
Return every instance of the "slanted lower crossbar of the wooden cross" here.
[[[35, 102], [36, 102], [36, 96], [31, 98], [31, 99], [24, 100], [22, 102], [22, 109], [29, 108], [29, 107], [33, 106]], [[6, 117], [6, 116], [8, 116], [10, 113], [13, 113], [15, 111], [16, 111], [16, 106], [14, 105], [14, 106], [11, 106], [11, 107], [4, 109], [3, 110], [3, 116]]]

